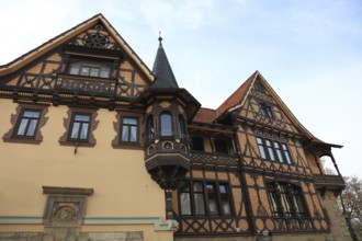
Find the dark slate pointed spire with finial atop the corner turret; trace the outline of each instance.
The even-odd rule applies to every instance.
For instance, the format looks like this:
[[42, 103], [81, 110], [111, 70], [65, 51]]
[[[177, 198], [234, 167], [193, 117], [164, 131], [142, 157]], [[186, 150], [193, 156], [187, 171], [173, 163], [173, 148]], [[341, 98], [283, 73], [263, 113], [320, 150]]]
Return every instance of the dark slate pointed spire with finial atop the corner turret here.
[[150, 88], [157, 89], [178, 89], [178, 82], [173, 76], [169, 60], [167, 59], [163, 46], [161, 33], [158, 37], [159, 46], [157, 49], [156, 59], [154, 62], [152, 72], [155, 74], [155, 82]]

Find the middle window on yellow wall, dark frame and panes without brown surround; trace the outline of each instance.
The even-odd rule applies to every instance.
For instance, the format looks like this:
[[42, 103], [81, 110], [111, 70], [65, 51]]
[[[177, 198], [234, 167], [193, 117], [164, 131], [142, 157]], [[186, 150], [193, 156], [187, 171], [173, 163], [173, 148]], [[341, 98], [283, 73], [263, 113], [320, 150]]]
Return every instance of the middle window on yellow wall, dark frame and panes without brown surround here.
[[73, 113], [69, 131], [69, 140], [87, 141], [89, 136], [90, 120], [90, 114]]

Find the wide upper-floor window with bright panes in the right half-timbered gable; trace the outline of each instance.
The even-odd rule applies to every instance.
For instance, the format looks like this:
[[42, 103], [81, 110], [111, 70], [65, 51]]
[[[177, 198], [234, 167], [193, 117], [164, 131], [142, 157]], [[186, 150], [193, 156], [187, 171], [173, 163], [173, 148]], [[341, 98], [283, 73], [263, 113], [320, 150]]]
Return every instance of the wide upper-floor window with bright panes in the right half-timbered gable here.
[[257, 137], [261, 159], [292, 164], [292, 156], [286, 144]]

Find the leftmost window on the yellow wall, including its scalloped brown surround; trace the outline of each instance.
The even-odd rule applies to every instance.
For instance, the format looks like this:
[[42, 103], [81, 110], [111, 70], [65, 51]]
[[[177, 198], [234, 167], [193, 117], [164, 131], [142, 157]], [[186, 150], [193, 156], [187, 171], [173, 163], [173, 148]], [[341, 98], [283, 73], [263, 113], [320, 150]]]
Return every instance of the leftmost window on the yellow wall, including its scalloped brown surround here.
[[20, 104], [16, 114], [11, 116], [12, 128], [4, 134], [3, 140], [10, 142], [38, 144], [42, 141], [41, 127], [45, 118], [47, 105]]

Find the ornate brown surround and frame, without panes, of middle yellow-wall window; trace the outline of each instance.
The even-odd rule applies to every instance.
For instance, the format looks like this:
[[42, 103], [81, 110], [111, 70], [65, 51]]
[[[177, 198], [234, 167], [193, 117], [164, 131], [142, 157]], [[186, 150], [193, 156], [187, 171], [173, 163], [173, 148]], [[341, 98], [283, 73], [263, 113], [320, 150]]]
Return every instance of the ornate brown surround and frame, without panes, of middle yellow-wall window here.
[[[69, 138], [72, 131], [72, 124], [73, 124], [73, 117], [76, 115], [89, 115], [90, 122], [89, 122], [89, 129], [88, 129], [88, 138], [87, 139], [72, 139]], [[97, 144], [97, 140], [94, 138], [94, 130], [97, 129], [99, 125], [99, 120], [95, 120], [98, 117], [97, 108], [73, 108], [70, 107], [67, 112], [67, 117], [64, 118], [63, 125], [66, 129], [66, 131], [63, 134], [63, 136], [59, 138], [59, 144], [61, 146], [78, 146], [81, 145], [83, 147], [93, 147]]]

